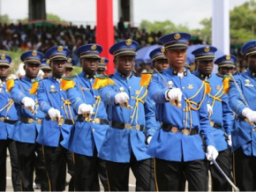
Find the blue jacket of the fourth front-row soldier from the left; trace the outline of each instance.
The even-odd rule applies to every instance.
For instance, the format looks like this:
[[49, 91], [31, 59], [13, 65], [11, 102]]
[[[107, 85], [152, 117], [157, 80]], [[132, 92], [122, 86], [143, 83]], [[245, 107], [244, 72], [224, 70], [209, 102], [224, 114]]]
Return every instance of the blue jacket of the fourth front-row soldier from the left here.
[[[99, 92], [92, 88], [94, 78], [86, 78], [85, 72], [81, 72], [78, 76], [79, 78], [73, 79], [76, 86], [66, 91], [76, 112], [78, 112], [80, 104], [86, 103], [94, 107], [95, 114], [92, 116], [92, 119], [101, 118], [108, 120], [104, 103], [102, 100], [96, 99], [96, 97], [100, 99]], [[61, 144], [70, 151], [92, 157], [95, 146], [97, 151], [100, 151], [107, 129], [109, 129], [109, 125], [106, 124], [77, 121], [72, 127], [69, 137]]]

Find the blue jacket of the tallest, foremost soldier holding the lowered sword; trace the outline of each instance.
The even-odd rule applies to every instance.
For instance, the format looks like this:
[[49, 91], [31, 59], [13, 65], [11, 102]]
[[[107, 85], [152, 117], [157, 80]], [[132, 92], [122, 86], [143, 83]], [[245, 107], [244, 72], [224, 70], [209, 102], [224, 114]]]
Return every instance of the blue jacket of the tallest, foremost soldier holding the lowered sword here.
[[[155, 101], [156, 117], [160, 122], [169, 123], [177, 127], [177, 129], [198, 128], [204, 136], [206, 144], [215, 146], [214, 138], [209, 132], [207, 100], [204, 100], [205, 85], [188, 70], [185, 73], [186, 76], [184, 78], [179, 78], [174, 70], [167, 69], [162, 71], [162, 78], [165, 79], [166, 83], [173, 84], [172, 87], [178, 87], [183, 92], [181, 108], [170, 105], [169, 101], [165, 99], [165, 92], [168, 87], [159, 74], [154, 74], [148, 87], [148, 92]], [[202, 100], [203, 102], [199, 110], [192, 110], [191, 113], [188, 113], [185, 109], [185, 99], [190, 99], [198, 104]], [[192, 106], [196, 107], [193, 104]], [[181, 132], [173, 133], [163, 129], [156, 131], [148, 146], [147, 153], [157, 159], [178, 162], [205, 159], [205, 151], [200, 134], [185, 136]]]

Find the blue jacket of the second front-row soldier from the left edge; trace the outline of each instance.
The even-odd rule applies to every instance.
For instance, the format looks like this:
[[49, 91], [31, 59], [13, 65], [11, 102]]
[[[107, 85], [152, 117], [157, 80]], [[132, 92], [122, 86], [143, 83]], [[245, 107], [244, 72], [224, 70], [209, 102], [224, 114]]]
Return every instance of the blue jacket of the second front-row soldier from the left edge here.
[[[11, 89], [11, 98], [15, 102], [17, 112], [21, 118], [33, 118], [34, 120], [42, 120], [44, 114], [41, 112], [38, 105], [38, 95], [30, 94], [30, 89], [32, 87], [31, 78], [25, 77], [16, 79], [15, 84]], [[27, 110], [24, 105], [22, 105], [21, 100], [25, 97], [30, 97], [36, 103], [35, 108], [36, 112], [32, 114], [31, 111]], [[34, 144], [37, 133], [41, 130], [41, 124], [37, 122], [26, 123], [26, 122], [17, 122], [15, 124], [15, 129], [10, 136], [13, 140]]]

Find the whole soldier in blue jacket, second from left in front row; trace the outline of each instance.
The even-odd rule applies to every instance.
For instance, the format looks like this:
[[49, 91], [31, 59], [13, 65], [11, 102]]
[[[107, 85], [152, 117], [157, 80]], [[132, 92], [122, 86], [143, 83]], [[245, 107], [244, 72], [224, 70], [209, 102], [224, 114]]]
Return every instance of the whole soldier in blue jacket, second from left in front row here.
[[[26, 76], [7, 81], [7, 91], [11, 91], [12, 100], [17, 107], [19, 122], [15, 124], [12, 138], [16, 141], [19, 158], [19, 177], [21, 190], [33, 191], [35, 151], [41, 154], [41, 145], [35, 143], [41, 129], [44, 114], [41, 112], [35, 87], [40, 69], [42, 54], [38, 51], [26, 51], [20, 56]], [[49, 190], [46, 173], [43, 176], [42, 190]]]

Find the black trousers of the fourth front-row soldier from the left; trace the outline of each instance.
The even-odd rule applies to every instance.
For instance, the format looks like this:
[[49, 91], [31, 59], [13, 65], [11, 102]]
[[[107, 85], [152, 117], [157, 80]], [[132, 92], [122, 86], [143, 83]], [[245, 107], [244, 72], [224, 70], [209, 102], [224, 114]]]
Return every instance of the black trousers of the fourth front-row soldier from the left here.
[[74, 159], [75, 189], [77, 191], [99, 191], [99, 177], [104, 190], [108, 190], [106, 162], [97, 158], [96, 150], [94, 150], [93, 157], [74, 153]]

